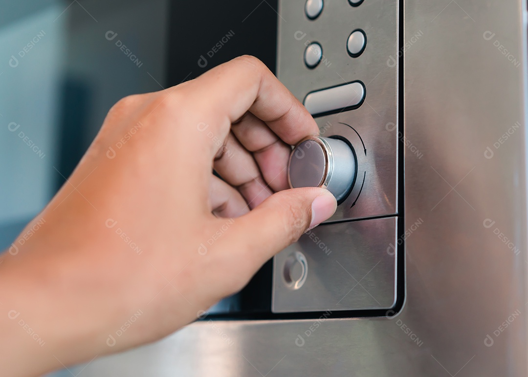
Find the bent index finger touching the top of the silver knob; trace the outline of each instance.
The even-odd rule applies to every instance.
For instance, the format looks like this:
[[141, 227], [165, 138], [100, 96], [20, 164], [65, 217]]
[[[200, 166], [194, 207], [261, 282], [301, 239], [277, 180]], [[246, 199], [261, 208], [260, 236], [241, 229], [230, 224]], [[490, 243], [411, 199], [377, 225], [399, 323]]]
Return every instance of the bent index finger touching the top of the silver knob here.
[[[319, 130], [306, 108], [257, 58], [241, 56], [219, 65], [185, 86], [187, 103], [208, 109], [203, 122], [224, 140], [231, 123], [250, 111], [285, 143], [296, 144]], [[219, 149], [209, 140], [211, 158]]]

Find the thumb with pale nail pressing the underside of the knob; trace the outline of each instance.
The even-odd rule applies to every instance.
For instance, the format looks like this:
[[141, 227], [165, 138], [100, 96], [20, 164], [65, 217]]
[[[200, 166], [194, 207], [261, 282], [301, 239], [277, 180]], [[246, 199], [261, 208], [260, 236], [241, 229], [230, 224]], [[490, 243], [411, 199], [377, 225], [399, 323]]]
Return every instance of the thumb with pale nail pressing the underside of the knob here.
[[238, 250], [263, 263], [299, 237], [331, 217], [334, 195], [318, 187], [279, 191], [240, 217], [233, 232]]

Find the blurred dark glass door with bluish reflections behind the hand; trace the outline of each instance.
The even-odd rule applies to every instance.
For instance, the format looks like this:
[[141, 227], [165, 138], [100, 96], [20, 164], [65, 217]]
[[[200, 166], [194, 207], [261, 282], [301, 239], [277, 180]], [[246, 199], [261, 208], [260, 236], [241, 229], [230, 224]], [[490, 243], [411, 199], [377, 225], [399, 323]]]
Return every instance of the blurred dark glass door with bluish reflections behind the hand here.
[[[262, 0], [0, 0], [0, 252], [65, 183], [120, 98], [242, 54], [274, 71], [276, 8]], [[250, 293], [216, 312], [269, 310], [261, 307], [269, 299], [255, 297], [260, 286], [270, 294], [270, 279], [268, 264]]]

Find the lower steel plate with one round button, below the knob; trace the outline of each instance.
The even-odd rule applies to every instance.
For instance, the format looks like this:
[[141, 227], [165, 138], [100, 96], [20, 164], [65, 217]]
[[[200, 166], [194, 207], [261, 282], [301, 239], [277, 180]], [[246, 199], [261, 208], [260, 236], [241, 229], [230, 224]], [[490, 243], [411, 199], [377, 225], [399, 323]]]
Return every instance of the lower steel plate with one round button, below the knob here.
[[[326, 224], [274, 258], [272, 311], [389, 309], [396, 301], [396, 218]], [[300, 287], [285, 280], [288, 258], [306, 257]]]

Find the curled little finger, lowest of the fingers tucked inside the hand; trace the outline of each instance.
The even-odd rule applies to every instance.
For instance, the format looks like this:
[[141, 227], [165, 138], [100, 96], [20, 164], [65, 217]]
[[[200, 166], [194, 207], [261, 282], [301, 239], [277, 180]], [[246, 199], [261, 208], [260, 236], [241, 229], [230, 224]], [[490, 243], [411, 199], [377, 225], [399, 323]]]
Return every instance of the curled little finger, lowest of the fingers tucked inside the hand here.
[[242, 195], [216, 176], [211, 177], [211, 210], [217, 217], [239, 217], [249, 212]]

